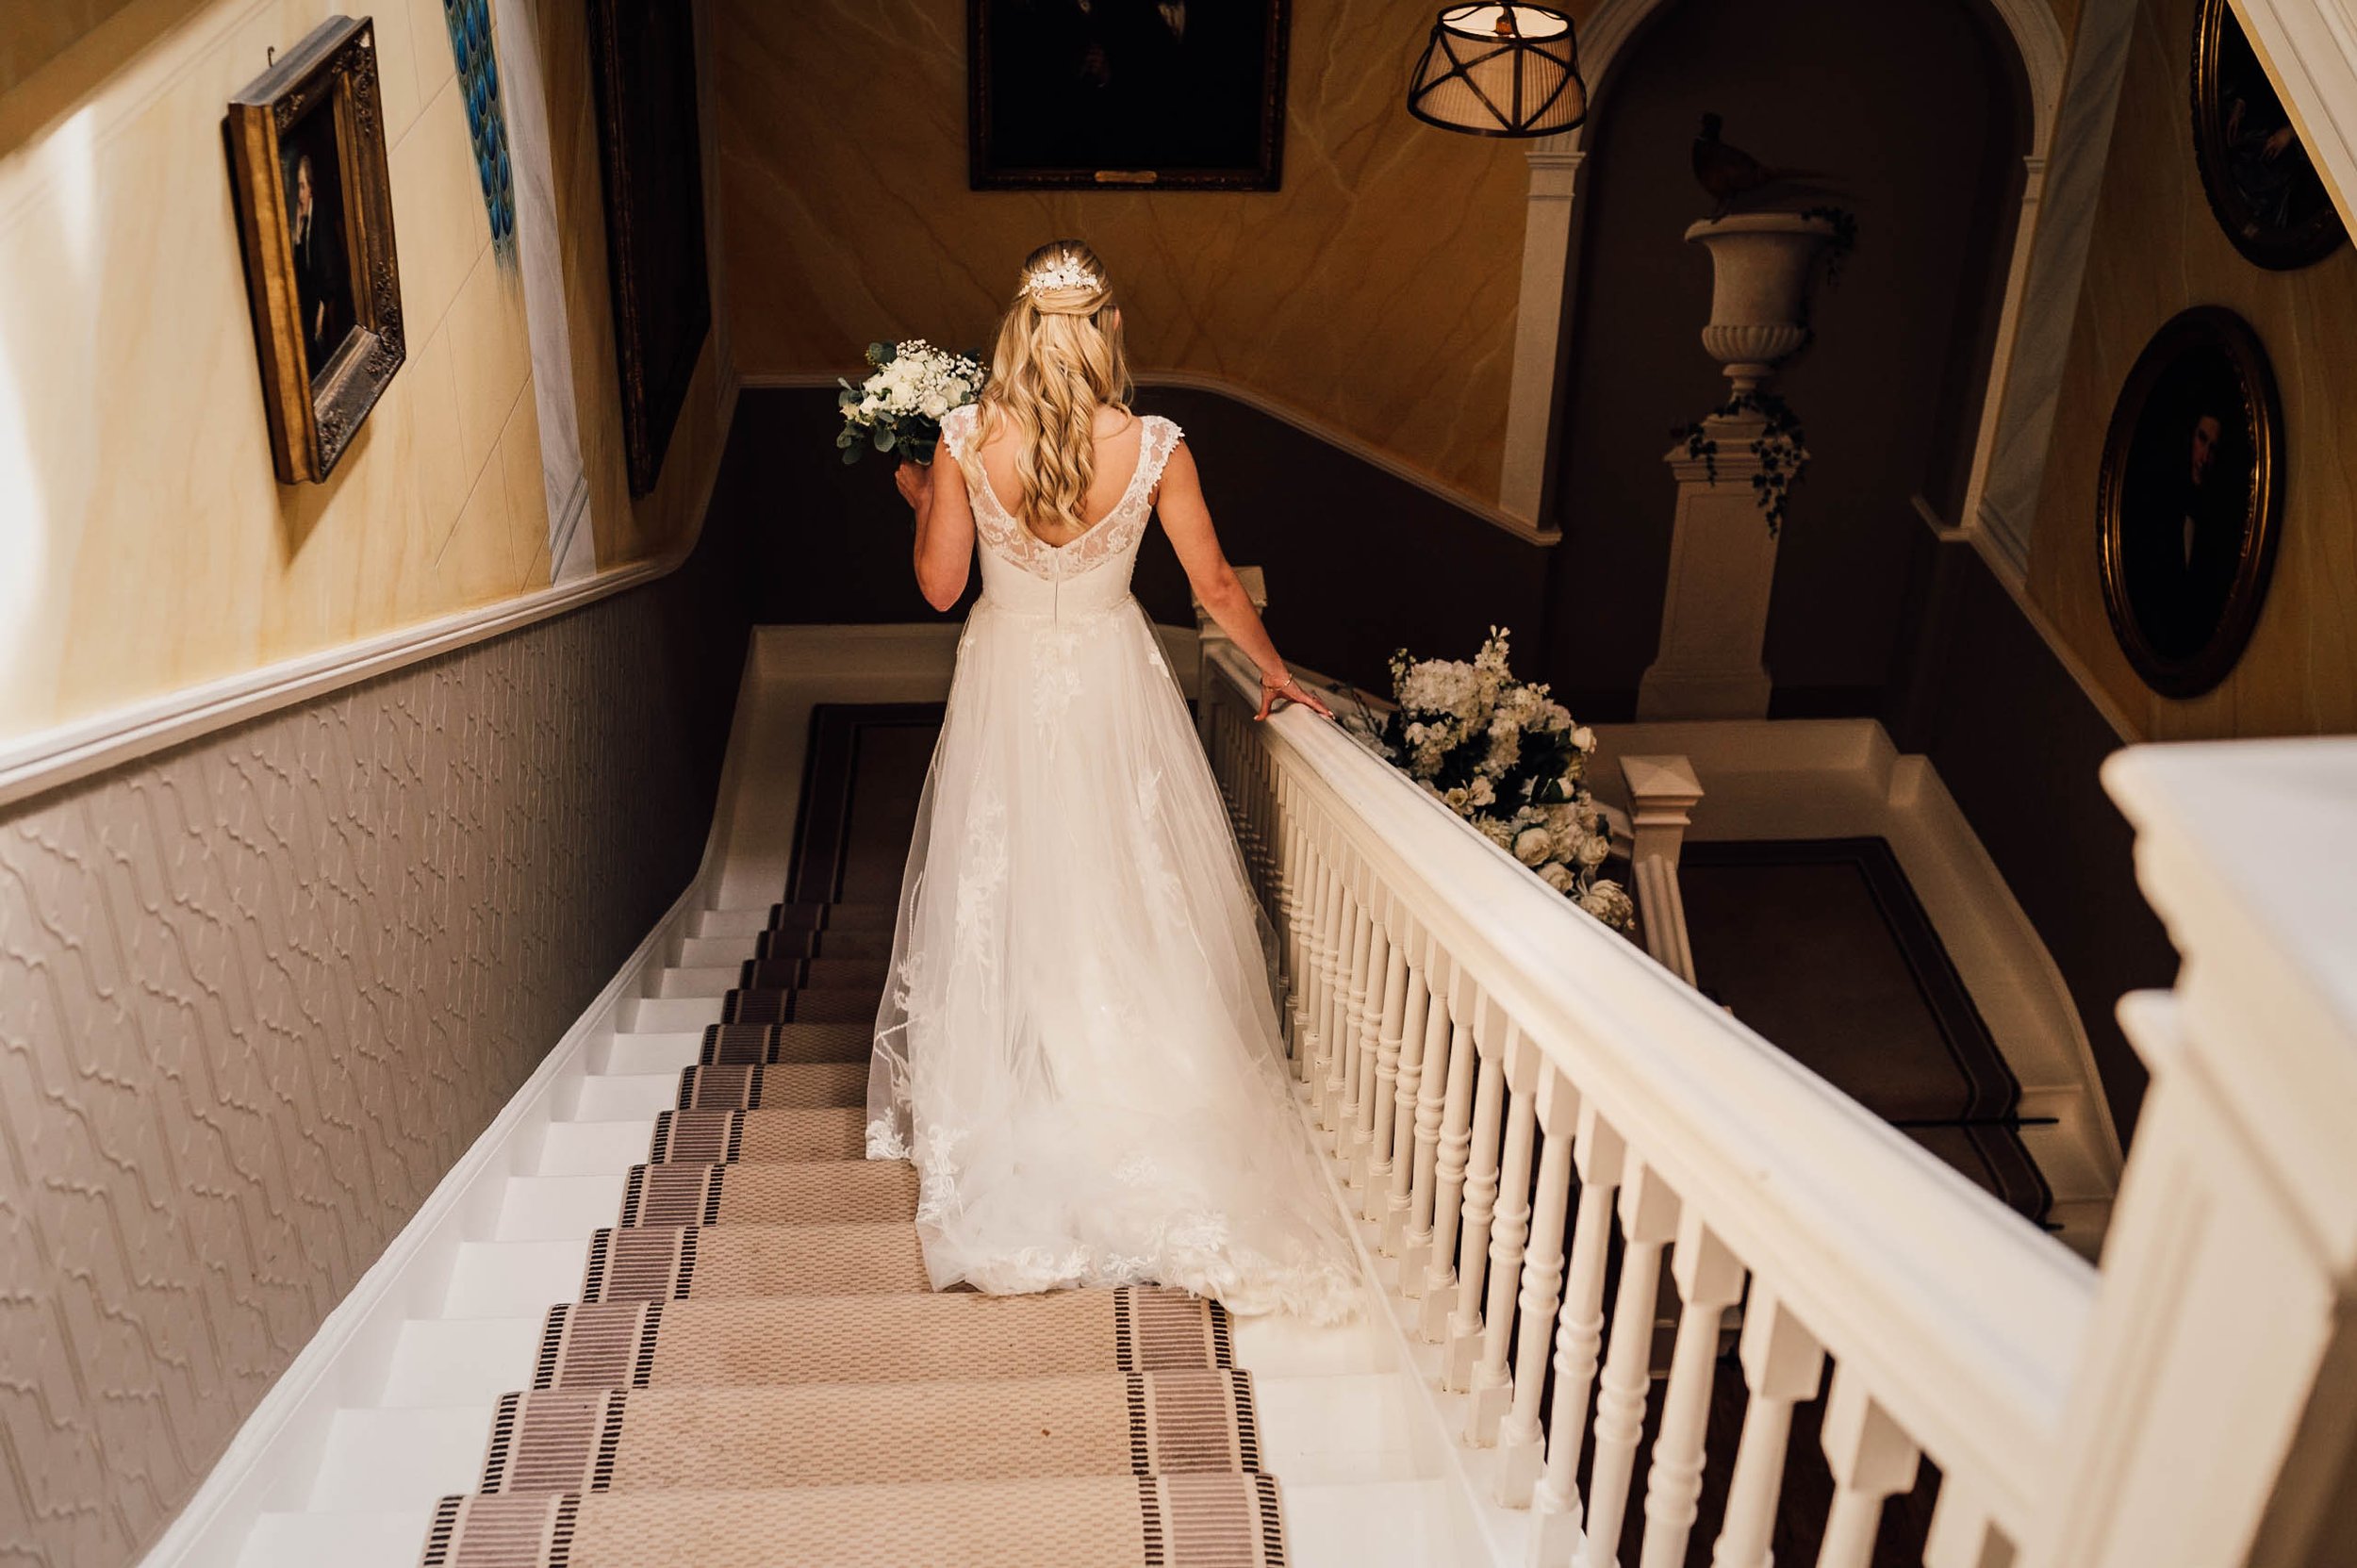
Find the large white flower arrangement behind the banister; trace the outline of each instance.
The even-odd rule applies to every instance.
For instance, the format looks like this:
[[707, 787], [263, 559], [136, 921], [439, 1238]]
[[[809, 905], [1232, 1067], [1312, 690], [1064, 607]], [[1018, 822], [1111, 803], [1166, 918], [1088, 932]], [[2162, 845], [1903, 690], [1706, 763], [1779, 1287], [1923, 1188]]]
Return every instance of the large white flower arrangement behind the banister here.
[[1490, 627], [1471, 665], [1400, 648], [1391, 691], [1400, 707], [1384, 722], [1384, 743], [1409, 778], [1589, 915], [1636, 929], [1636, 903], [1596, 875], [1612, 854], [1586, 788], [1596, 733], [1572, 724], [1546, 684], [1513, 679], [1501, 627]]

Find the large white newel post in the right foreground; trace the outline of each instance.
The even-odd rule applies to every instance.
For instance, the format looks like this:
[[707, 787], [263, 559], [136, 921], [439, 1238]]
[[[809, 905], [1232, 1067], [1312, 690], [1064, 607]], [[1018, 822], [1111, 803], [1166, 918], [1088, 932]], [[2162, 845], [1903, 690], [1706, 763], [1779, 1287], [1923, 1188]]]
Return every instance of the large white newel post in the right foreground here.
[[2105, 788], [2185, 964], [2025, 1568], [2348, 1561], [2357, 740], [2135, 747]]

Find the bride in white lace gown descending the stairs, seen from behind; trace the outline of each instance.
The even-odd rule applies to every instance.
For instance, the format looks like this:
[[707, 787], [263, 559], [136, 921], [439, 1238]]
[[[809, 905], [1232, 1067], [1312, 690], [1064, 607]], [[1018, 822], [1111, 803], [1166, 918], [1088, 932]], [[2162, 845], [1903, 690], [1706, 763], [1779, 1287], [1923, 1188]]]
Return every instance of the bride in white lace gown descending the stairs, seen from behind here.
[[[1348, 1316], [1341, 1221], [1292, 1108], [1266, 924], [1129, 571], [1160, 512], [1261, 714], [1285, 670], [1211, 533], [1178, 427], [1127, 406], [1103, 262], [1023, 264], [981, 403], [940, 427], [917, 585], [983, 597], [907, 851], [867, 1155], [912, 1160], [936, 1287], [1183, 1285]], [[1332, 717], [1332, 714], [1327, 714]]]

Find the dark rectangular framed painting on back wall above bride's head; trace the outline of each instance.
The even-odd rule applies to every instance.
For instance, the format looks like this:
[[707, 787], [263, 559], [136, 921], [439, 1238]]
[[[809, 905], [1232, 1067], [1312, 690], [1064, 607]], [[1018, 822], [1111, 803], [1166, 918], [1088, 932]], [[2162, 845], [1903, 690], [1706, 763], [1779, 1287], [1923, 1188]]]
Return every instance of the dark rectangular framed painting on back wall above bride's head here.
[[1275, 191], [1287, 0], [966, 0], [976, 191]]

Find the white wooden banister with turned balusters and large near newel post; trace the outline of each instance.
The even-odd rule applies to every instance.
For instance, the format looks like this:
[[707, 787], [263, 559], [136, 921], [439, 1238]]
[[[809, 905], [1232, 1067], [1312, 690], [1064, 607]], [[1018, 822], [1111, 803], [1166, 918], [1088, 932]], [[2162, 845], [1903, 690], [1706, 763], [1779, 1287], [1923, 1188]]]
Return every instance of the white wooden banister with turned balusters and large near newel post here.
[[1817, 1398], [1827, 1568], [1926, 1460], [1928, 1568], [2357, 1561], [2357, 745], [2112, 766], [2190, 962], [2124, 1009], [2154, 1082], [2098, 1273], [1256, 689], [1207, 637], [1294, 1070], [1494, 1561], [1690, 1561], [1735, 1368], [1714, 1568], [1770, 1563]]

